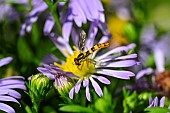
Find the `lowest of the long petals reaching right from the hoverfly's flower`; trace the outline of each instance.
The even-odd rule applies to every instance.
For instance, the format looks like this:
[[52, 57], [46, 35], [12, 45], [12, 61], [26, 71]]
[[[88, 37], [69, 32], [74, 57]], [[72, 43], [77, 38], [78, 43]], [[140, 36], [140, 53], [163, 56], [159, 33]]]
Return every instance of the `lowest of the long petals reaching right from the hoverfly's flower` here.
[[100, 71], [97, 71], [97, 74], [108, 75], [120, 79], [130, 79], [131, 76], [135, 76], [135, 74], [130, 71], [117, 71], [117, 70], [107, 70], [107, 69], [102, 69]]

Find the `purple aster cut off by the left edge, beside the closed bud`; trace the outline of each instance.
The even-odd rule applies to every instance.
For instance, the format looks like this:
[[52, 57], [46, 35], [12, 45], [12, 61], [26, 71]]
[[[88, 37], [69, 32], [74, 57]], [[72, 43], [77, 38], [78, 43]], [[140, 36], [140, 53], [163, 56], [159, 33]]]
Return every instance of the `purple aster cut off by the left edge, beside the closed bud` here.
[[[6, 57], [0, 60], [0, 67], [11, 62], [12, 57]], [[20, 104], [16, 99], [21, 98], [21, 94], [13, 89], [26, 90], [24, 77], [11, 76], [9, 78], [0, 79], [0, 110], [15, 113], [15, 110], [3, 102], [15, 102]]]

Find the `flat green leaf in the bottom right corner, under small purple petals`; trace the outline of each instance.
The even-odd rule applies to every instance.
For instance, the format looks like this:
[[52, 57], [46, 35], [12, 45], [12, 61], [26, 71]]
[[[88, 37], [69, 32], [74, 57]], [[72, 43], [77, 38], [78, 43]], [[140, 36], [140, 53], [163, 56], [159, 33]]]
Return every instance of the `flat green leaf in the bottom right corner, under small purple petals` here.
[[146, 108], [145, 113], [168, 113], [170, 110], [166, 107], [152, 107], [152, 108]]

